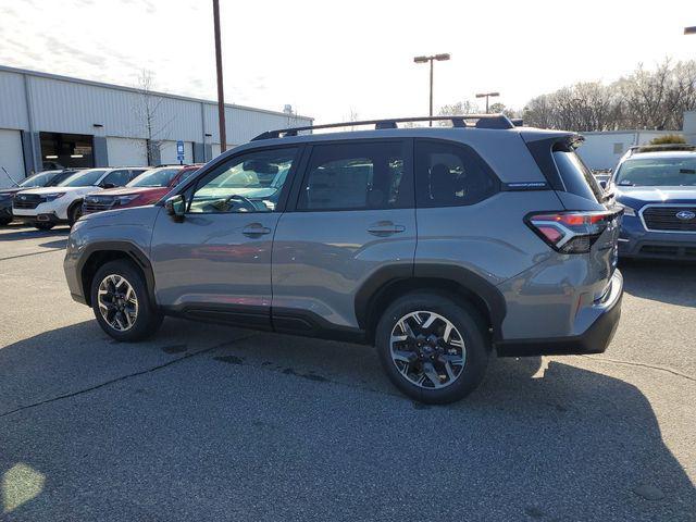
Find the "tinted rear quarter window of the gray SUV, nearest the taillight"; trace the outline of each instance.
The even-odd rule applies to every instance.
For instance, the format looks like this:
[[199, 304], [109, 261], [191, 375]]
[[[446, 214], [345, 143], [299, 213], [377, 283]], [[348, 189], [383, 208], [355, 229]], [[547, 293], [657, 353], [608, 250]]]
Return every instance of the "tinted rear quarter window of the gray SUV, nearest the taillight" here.
[[499, 182], [467, 146], [418, 140], [415, 175], [419, 207], [473, 204], [499, 190]]

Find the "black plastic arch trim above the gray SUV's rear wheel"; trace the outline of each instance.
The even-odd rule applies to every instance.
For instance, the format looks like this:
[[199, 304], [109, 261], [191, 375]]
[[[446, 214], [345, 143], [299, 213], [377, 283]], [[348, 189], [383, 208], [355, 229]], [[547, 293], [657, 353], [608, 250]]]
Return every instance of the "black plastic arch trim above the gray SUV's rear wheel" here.
[[457, 283], [484, 302], [490, 318], [493, 338], [495, 341], [502, 339], [502, 321], [507, 307], [500, 290], [471, 270], [444, 263], [394, 264], [375, 271], [356, 295], [355, 310], [360, 328], [366, 330], [369, 326], [370, 306], [374, 299], [393, 284], [408, 279], [444, 279]]

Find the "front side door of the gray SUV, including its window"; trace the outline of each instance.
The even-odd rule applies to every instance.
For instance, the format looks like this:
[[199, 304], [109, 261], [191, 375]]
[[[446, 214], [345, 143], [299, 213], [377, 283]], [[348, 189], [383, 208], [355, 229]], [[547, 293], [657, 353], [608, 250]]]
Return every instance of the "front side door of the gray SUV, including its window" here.
[[270, 326], [271, 247], [298, 153], [283, 147], [234, 156], [184, 189], [183, 220], [160, 213], [151, 258], [161, 306]]

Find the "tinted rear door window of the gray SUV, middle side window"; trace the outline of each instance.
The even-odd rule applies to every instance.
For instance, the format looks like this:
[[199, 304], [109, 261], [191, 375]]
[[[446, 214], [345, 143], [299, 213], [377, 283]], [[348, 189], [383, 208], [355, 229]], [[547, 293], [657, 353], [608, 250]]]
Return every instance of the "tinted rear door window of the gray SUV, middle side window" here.
[[372, 141], [315, 145], [298, 209], [368, 210], [413, 204], [405, 145]]

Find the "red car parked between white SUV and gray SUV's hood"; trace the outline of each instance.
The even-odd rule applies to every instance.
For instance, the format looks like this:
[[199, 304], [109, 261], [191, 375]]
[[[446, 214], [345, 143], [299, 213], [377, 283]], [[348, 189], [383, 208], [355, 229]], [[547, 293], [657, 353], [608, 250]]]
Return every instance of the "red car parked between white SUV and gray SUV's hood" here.
[[153, 204], [201, 166], [202, 163], [158, 166], [145, 171], [125, 187], [108, 188], [85, 196], [83, 214], [122, 209], [124, 207]]

